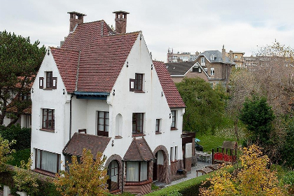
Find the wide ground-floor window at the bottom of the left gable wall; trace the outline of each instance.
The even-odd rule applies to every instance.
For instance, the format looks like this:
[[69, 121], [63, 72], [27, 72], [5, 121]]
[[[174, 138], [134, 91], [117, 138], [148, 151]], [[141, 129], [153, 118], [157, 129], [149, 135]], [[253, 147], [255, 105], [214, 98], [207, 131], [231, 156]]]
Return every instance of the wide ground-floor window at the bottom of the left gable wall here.
[[60, 169], [60, 155], [36, 149], [36, 169], [57, 173]]

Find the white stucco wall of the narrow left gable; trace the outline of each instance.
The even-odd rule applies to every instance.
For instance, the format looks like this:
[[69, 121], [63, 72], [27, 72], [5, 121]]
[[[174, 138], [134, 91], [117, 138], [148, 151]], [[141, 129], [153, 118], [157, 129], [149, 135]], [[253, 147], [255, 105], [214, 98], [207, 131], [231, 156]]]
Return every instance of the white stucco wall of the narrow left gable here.
[[[52, 76], [57, 77], [57, 89], [45, 90], [39, 89], [39, 77], [44, 77], [45, 72], [52, 71]], [[45, 85], [44, 85], [45, 88]], [[65, 90], [65, 94], [63, 94]], [[66, 99], [67, 102], [66, 102]], [[67, 95], [64, 83], [57, 69], [57, 65], [50, 55], [46, 55], [43, 59], [41, 67], [31, 88], [31, 153], [33, 153], [33, 161], [35, 160], [35, 148], [51, 153], [61, 155], [61, 160], [64, 161], [62, 149], [64, 148], [64, 132], [65, 127], [69, 127], [69, 121], [66, 121], [65, 116], [68, 111], [65, 110], [66, 105], [69, 104], [70, 96]], [[67, 106], [68, 108], [68, 106]], [[54, 109], [55, 110], [55, 131], [46, 132], [41, 130], [42, 127], [42, 110]], [[34, 164], [32, 168], [34, 169]]]

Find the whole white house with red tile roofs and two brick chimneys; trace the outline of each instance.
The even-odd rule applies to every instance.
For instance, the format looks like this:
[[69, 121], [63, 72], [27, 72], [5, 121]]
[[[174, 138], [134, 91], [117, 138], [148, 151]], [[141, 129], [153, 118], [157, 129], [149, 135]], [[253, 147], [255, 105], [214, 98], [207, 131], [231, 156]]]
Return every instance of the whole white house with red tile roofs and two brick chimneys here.
[[115, 13], [116, 32], [71, 12], [71, 33], [46, 51], [31, 88], [32, 169], [55, 174], [87, 148], [106, 155], [111, 193], [143, 195], [189, 170], [193, 144], [182, 146], [185, 104], [165, 64], [141, 31], [125, 33], [128, 13]]

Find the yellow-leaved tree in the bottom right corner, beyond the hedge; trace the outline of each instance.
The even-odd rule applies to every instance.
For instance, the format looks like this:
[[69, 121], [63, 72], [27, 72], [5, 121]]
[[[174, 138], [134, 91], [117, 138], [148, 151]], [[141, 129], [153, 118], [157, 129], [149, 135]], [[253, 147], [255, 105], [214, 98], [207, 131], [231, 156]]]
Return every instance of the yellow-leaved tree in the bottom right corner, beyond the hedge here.
[[241, 168], [234, 172], [221, 169], [216, 172], [210, 181], [209, 188], [201, 188], [202, 196], [218, 195], [286, 195], [286, 189], [279, 186], [276, 173], [267, 169], [269, 159], [262, 155], [258, 146], [252, 145], [242, 149], [240, 156]]

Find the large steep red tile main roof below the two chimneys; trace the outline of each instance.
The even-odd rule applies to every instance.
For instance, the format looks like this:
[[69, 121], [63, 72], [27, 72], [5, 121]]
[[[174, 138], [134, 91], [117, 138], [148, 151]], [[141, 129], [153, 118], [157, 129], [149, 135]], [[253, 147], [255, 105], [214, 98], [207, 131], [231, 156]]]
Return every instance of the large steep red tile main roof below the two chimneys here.
[[[109, 35], [111, 33], [104, 20], [88, 22], [78, 25], [64, 41], [62, 49], [80, 51], [77, 91], [111, 92], [139, 32]], [[52, 54], [55, 62], [62, 62], [64, 53]], [[67, 76], [62, 80], [64, 77]], [[72, 87], [73, 80], [70, 78], [69, 81]]]

